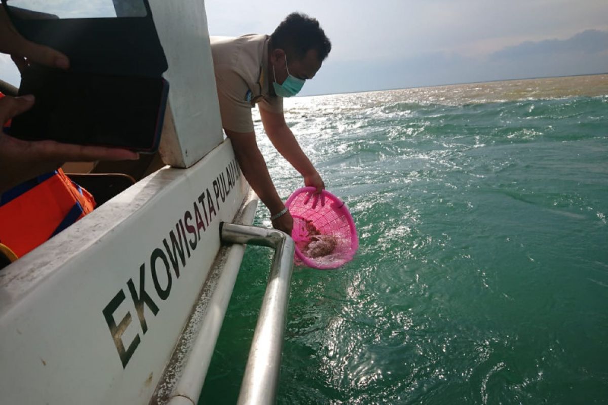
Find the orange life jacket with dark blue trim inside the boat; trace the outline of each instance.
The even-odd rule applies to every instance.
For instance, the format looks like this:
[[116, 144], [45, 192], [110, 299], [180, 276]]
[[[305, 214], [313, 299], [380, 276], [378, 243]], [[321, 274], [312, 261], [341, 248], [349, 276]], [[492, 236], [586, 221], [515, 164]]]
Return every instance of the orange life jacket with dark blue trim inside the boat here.
[[21, 257], [94, 208], [63, 170], [40, 175], [0, 194], [0, 243]]

